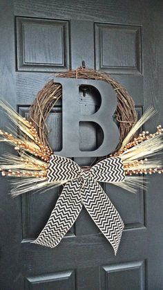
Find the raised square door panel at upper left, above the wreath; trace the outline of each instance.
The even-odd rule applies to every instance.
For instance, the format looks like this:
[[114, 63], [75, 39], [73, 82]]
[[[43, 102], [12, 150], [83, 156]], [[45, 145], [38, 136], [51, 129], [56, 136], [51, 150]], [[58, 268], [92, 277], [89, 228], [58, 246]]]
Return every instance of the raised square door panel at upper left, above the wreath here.
[[68, 21], [17, 17], [17, 70], [70, 69]]

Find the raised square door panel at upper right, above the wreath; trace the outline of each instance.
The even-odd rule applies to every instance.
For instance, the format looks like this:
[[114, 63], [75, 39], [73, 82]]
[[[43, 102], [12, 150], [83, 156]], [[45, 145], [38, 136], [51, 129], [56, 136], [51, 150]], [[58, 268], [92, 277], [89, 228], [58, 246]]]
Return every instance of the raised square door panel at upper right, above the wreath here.
[[141, 34], [141, 26], [96, 23], [95, 68], [107, 73], [142, 73]]

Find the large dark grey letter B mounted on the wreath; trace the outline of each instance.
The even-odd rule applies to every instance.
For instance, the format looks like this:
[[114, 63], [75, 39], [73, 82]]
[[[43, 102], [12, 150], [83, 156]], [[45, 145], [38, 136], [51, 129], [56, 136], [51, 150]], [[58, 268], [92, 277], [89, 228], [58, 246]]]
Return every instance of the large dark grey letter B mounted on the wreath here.
[[[62, 149], [55, 152], [66, 157], [96, 157], [105, 156], [117, 147], [119, 143], [119, 130], [113, 121], [113, 114], [117, 107], [117, 96], [108, 84], [101, 80], [83, 80], [75, 78], [55, 78], [54, 82], [62, 86]], [[93, 115], [79, 113], [79, 86], [95, 87], [102, 102], [99, 110]], [[79, 122], [97, 123], [103, 130], [104, 140], [102, 145], [94, 151], [81, 151], [79, 149]]]

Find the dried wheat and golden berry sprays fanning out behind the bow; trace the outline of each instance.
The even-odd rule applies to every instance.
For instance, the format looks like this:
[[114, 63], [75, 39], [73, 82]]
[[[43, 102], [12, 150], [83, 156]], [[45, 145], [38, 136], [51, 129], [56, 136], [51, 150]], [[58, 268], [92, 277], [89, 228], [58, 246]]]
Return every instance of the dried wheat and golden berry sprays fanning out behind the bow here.
[[[12, 181], [12, 196], [15, 197], [30, 190], [43, 192], [50, 187], [66, 183], [67, 180], [48, 182], [48, 163], [52, 151], [42, 143], [32, 123], [17, 114], [10, 105], [0, 101], [0, 107], [6, 111], [15, 125], [14, 130], [13, 128], [11, 130], [8, 128], [8, 132], [0, 130], [0, 141], [12, 145], [18, 153], [18, 156], [6, 153], [0, 158], [1, 174], [15, 177]], [[163, 149], [161, 125], [157, 126], [155, 134], [142, 132], [132, 141], [137, 129], [153, 114], [153, 109], [149, 108], [128, 133], [121, 148], [111, 155], [111, 157], [119, 156], [122, 159], [126, 175], [123, 182], [115, 182], [114, 184], [132, 192], [135, 192], [137, 186], [144, 188], [142, 174], [155, 172], [160, 174], [163, 172], [162, 162], [153, 158], [157, 152]]]

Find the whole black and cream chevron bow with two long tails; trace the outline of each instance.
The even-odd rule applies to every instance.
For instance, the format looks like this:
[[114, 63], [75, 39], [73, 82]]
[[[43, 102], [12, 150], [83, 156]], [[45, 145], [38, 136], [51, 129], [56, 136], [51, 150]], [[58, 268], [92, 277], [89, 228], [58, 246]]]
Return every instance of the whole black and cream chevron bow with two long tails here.
[[115, 255], [124, 223], [99, 185], [99, 182], [122, 182], [125, 179], [121, 158], [111, 157], [84, 171], [70, 158], [52, 155], [48, 182], [66, 181], [44, 229], [33, 243], [55, 247], [73, 226], [82, 206], [114, 248]]

